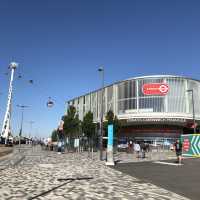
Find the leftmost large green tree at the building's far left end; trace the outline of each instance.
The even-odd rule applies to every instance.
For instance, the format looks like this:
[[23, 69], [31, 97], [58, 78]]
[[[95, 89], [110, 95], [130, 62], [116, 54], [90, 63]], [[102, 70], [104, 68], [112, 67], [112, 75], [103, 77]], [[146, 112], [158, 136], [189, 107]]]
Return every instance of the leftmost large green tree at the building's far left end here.
[[69, 106], [67, 115], [63, 117], [63, 121], [63, 131], [65, 136], [71, 138], [80, 134], [80, 120], [74, 106]]

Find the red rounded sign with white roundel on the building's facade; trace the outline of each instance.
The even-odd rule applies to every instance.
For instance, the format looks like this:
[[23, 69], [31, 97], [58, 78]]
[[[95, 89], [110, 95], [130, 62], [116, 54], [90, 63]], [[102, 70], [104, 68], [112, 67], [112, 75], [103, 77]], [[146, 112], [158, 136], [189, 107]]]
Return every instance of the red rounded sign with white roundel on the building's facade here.
[[142, 86], [144, 95], [166, 95], [169, 91], [169, 86], [166, 83], [148, 83]]

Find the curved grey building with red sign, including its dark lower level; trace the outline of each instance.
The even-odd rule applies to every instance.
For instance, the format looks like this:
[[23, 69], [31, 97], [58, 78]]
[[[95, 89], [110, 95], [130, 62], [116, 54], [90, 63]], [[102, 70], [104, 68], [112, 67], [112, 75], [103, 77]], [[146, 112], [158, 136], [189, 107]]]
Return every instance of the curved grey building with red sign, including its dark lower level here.
[[[90, 110], [101, 116], [101, 89], [74, 98], [80, 120]], [[130, 78], [103, 89], [103, 114], [112, 110], [122, 122], [120, 137], [174, 140], [200, 123], [200, 81], [171, 75]], [[194, 123], [195, 122], [195, 123]]]

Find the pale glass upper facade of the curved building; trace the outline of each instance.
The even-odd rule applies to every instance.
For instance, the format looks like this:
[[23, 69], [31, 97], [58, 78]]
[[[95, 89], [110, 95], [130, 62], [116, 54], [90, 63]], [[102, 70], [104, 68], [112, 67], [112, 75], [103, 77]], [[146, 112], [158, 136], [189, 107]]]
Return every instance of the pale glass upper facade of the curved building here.
[[[162, 84], [167, 87], [167, 92], [156, 93], [157, 90], [163, 92], [163, 88], [159, 88]], [[145, 86], [154, 87], [152, 94], [145, 94]], [[76, 107], [80, 120], [89, 110], [93, 112], [96, 122], [100, 120], [101, 90], [68, 103]], [[193, 103], [195, 118], [200, 120], [200, 81], [179, 76], [138, 77], [114, 83], [103, 90], [104, 116], [112, 110], [119, 119], [151, 116], [192, 119]]]

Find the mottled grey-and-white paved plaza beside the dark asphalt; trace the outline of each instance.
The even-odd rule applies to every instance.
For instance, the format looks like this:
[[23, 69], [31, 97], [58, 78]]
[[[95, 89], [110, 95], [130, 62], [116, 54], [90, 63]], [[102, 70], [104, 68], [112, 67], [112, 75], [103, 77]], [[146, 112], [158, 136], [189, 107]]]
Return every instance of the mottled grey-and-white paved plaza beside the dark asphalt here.
[[15, 149], [0, 162], [0, 199], [187, 199], [105, 166], [98, 158], [97, 153], [92, 159], [86, 152], [57, 154], [39, 146]]

